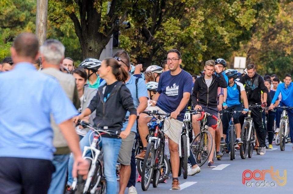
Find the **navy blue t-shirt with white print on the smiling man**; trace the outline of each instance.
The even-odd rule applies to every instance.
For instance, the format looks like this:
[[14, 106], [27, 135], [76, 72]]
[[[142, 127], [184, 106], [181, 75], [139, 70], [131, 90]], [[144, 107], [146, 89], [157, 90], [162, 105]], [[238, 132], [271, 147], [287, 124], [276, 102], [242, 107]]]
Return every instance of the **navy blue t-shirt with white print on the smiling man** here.
[[[171, 71], [163, 72], [160, 76], [157, 92], [160, 93], [160, 96], [156, 106], [166, 113], [172, 113], [179, 106], [183, 93], [192, 93], [192, 77], [184, 70], [181, 70], [177, 75], [171, 75]], [[187, 104], [177, 120], [183, 121], [186, 108]]]

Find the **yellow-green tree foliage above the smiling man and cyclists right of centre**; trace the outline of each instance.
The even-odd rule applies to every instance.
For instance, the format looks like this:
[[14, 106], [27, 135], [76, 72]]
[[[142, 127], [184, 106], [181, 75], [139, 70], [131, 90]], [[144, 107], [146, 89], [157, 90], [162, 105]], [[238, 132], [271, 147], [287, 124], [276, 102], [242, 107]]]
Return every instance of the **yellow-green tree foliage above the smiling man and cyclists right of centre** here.
[[250, 40], [262, 12], [267, 14], [276, 2], [154, 0], [145, 21], [132, 17], [134, 27], [125, 32], [121, 46], [145, 66], [159, 65], [168, 49], [177, 48], [184, 68], [199, 73], [206, 60], [228, 59], [241, 41]]

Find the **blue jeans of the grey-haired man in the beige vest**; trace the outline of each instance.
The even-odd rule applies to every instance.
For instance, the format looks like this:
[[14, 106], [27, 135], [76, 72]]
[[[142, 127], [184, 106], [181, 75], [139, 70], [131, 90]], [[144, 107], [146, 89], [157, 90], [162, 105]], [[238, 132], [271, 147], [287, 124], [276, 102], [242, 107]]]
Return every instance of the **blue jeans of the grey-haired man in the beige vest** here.
[[62, 194], [64, 192], [68, 159], [69, 154], [54, 155], [52, 163], [56, 171], [52, 174], [52, 181], [48, 194]]

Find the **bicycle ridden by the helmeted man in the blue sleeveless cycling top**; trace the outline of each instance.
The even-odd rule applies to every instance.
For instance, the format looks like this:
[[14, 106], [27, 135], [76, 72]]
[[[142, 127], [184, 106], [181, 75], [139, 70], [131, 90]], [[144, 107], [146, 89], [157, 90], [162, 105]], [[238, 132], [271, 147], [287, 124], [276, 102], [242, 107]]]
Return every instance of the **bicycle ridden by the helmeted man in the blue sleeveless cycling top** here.
[[[242, 110], [237, 110], [236, 111], [236, 110], [225, 110], [225, 109], [223, 109], [222, 112], [229, 113], [230, 116], [231, 116], [231, 124], [230, 124], [230, 127], [229, 127], [228, 140], [229, 140], [229, 146], [230, 146], [230, 160], [233, 160], [233, 159], [235, 159], [235, 146], [236, 146], [236, 142], [235, 142], [236, 126], [234, 124], [234, 117], [233, 116], [236, 113], [242, 113]], [[241, 155], [241, 147], [242, 147], [242, 145], [240, 145], [240, 155]], [[243, 150], [243, 148], [242, 148], [242, 150]], [[218, 156], [218, 157], [221, 157], [221, 156]], [[242, 158], [242, 155], [241, 155], [241, 158]], [[242, 159], [245, 159], [245, 158], [242, 158]]]

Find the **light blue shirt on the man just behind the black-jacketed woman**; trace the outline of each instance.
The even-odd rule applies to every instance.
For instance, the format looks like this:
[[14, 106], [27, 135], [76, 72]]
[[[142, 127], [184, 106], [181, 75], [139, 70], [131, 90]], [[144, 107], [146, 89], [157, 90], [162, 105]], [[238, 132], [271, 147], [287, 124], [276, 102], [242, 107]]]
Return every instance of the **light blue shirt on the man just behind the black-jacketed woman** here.
[[[130, 79], [125, 83], [125, 85], [131, 93], [131, 97], [133, 98], [134, 107], [137, 108], [139, 105], [139, 99], [137, 99], [137, 98], [140, 98], [140, 97], [147, 97], [148, 98], [149, 96], [147, 93], [147, 87], [146, 87], [145, 81], [142, 78], [138, 78], [137, 98], [136, 98], [135, 81], [136, 81], [136, 77], [130, 74]], [[102, 81], [100, 85], [102, 86], [104, 84], [106, 84], [106, 81]], [[126, 116], [129, 116], [129, 111], [127, 111]], [[122, 127], [121, 131], [124, 131], [126, 129], [127, 124], [128, 124], [128, 121], [123, 123], [123, 127]], [[134, 122], [134, 124], [131, 128], [131, 131], [135, 132], [135, 133], [137, 132], [136, 131], [136, 122]]]

